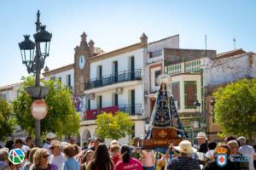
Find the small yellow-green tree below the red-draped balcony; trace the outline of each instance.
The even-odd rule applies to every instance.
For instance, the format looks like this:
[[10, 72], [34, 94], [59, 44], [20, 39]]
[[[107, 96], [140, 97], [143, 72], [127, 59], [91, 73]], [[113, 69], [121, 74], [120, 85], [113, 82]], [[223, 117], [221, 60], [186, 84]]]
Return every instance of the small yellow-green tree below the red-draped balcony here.
[[102, 138], [120, 139], [132, 134], [134, 123], [127, 113], [118, 111], [114, 116], [111, 113], [96, 116], [96, 125], [96, 133]]

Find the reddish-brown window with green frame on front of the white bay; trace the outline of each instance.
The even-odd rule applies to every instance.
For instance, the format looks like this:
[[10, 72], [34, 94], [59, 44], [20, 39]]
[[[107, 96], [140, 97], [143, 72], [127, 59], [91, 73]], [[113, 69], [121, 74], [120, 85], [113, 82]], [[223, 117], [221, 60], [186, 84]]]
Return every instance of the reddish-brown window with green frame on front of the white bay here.
[[197, 90], [196, 90], [195, 81], [184, 82], [184, 99], [185, 99], [185, 109], [194, 108], [193, 103], [197, 99]]

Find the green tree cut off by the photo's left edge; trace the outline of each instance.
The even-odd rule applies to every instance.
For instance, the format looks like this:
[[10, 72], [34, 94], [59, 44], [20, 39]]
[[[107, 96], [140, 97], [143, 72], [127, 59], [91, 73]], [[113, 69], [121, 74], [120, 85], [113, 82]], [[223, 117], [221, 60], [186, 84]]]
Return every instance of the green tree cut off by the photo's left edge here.
[[11, 105], [5, 99], [0, 98], [0, 140], [6, 139], [13, 133], [15, 127], [12, 117]]

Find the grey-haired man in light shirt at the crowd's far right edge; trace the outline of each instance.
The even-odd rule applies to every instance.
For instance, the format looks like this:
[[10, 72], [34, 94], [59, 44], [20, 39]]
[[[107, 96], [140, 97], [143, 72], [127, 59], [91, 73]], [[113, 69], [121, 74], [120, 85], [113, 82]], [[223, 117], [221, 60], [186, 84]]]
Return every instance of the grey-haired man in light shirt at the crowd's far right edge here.
[[237, 140], [241, 145], [239, 148], [239, 152], [243, 156], [247, 156], [247, 158], [249, 159], [249, 170], [254, 170], [253, 160], [256, 160], [255, 150], [253, 150], [252, 146], [247, 145], [247, 139], [245, 137], [241, 136]]

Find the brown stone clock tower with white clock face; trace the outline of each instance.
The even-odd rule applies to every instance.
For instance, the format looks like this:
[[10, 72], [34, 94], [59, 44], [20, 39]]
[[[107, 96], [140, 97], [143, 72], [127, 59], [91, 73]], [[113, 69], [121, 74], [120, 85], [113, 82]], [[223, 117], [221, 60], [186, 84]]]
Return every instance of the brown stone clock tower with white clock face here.
[[90, 53], [91, 50], [94, 50], [94, 42], [90, 40], [88, 44], [86, 37], [84, 32], [81, 35], [80, 45], [74, 48], [74, 94], [79, 96], [84, 95], [84, 83], [90, 80], [89, 58], [93, 55]]

